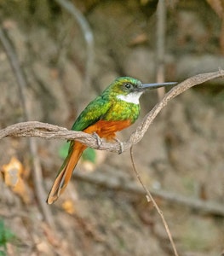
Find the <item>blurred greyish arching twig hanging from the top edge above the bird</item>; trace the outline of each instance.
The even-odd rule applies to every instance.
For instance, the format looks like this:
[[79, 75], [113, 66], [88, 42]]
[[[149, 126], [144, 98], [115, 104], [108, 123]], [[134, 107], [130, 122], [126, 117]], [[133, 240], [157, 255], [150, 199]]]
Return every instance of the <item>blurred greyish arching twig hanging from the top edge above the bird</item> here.
[[89, 26], [89, 22], [83, 14], [76, 8], [74, 3], [67, 0], [55, 0], [63, 9], [74, 17], [83, 32], [83, 38], [86, 42], [86, 65], [85, 65], [85, 84], [90, 84], [91, 71], [94, 63], [94, 35]]

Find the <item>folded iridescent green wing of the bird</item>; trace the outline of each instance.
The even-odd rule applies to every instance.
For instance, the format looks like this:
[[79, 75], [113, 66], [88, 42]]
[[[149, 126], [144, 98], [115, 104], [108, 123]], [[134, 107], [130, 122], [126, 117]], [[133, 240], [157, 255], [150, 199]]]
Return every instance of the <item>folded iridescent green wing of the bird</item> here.
[[98, 96], [83, 109], [83, 112], [80, 113], [78, 119], [76, 119], [75, 123], [72, 125], [72, 130], [83, 131], [90, 125], [94, 125], [106, 114], [110, 107], [110, 101], [107, 101], [102, 96]]

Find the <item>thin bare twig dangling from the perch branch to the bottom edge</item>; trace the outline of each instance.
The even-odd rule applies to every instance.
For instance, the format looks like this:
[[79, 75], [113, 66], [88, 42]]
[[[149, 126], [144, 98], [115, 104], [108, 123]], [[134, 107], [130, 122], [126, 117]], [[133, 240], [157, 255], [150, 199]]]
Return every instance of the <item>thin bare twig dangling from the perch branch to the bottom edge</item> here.
[[131, 159], [131, 164], [132, 164], [132, 167], [133, 167], [133, 170], [136, 174], [136, 177], [138, 178], [139, 182], [141, 183], [141, 186], [142, 188], [145, 190], [145, 193], [146, 193], [146, 200], [149, 202], [149, 201], [152, 201], [152, 204], [153, 206], [156, 208], [160, 218], [162, 219], [163, 223], [164, 223], [164, 227], [165, 227], [165, 230], [167, 232], [167, 235], [169, 236], [169, 241], [171, 243], [171, 246], [173, 247], [173, 250], [174, 250], [174, 253], [175, 253], [175, 256], [178, 256], [178, 253], [177, 253], [177, 250], [176, 250], [176, 247], [175, 247], [175, 242], [173, 240], [173, 237], [171, 235], [171, 232], [169, 231], [169, 226], [164, 218], [164, 214], [163, 212], [160, 210], [160, 208], [158, 207], [158, 204], [157, 202], [154, 200], [153, 196], [151, 195], [150, 191], [146, 188], [146, 185], [143, 183], [143, 181], [141, 180], [141, 176], [139, 174], [139, 172], [137, 171], [136, 167], [135, 167], [135, 162], [134, 162], [134, 158], [133, 158], [133, 146], [130, 147], [130, 159]]

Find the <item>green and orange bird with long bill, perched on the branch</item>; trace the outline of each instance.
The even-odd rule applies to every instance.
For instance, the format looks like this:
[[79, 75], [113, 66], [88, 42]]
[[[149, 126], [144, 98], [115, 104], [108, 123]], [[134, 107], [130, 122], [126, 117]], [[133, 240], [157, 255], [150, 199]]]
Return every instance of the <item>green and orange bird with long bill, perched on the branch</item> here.
[[[116, 132], [122, 131], [135, 123], [140, 114], [141, 95], [151, 90], [175, 82], [142, 84], [140, 80], [130, 77], [119, 77], [104, 90], [95, 100], [89, 102], [72, 125], [73, 131], [95, 134], [107, 141], [116, 140]], [[66, 159], [55, 177], [50, 189], [47, 203], [52, 204], [66, 189], [72, 172], [87, 146], [71, 141]]]

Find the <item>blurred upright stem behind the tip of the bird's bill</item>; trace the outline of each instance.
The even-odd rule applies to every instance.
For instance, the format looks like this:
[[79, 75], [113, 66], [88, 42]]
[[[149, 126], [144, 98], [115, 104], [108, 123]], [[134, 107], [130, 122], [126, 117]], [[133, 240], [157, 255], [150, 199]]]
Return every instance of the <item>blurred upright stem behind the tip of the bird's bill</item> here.
[[[164, 83], [164, 55], [165, 55], [165, 23], [166, 23], [166, 3], [165, 0], [158, 0], [157, 8], [157, 33], [156, 33], [156, 68], [157, 82]], [[158, 98], [164, 97], [164, 87], [158, 88]]]

